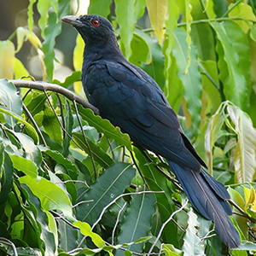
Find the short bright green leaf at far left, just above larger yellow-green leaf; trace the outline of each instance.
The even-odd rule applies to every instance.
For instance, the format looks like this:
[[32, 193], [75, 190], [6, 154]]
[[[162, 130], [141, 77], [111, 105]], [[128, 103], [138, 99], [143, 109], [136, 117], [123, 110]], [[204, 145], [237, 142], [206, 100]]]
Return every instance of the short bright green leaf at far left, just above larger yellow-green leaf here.
[[20, 172], [24, 172], [26, 175], [31, 177], [38, 176], [38, 166], [32, 162], [32, 160], [27, 160], [26, 158], [20, 157], [19, 155], [9, 154], [15, 169]]

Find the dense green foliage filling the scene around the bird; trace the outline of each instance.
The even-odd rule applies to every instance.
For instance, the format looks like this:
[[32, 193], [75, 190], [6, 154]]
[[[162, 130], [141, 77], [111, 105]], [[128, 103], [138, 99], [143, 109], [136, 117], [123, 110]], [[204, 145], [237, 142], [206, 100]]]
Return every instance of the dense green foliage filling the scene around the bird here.
[[88, 8], [112, 20], [125, 57], [160, 84], [229, 189], [242, 241], [232, 251], [168, 166], [79, 98], [84, 43], [60, 20], [84, 1], [20, 1], [18, 15], [13, 3], [1, 3], [16, 23], [0, 41], [0, 253], [256, 252], [255, 1], [90, 0]]

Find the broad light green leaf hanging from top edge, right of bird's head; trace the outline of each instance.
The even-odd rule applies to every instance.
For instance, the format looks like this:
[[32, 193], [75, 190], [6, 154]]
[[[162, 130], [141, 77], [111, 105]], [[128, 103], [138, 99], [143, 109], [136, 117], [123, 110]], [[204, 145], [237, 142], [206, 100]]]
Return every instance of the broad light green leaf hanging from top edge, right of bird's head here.
[[121, 49], [126, 59], [131, 56], [131, 39], [134, 32], [136, 16], [135, 0], [115, 0], [115, 14], [119, 24], [119, 36], [121, 38]]

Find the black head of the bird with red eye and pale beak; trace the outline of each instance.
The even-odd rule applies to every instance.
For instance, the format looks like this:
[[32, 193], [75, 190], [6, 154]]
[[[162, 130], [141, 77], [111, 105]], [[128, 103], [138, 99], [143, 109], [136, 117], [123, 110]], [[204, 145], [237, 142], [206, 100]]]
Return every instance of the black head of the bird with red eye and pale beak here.
[[85, 44], [98, 44], [108, 42], [115, 38], [113, 26], [110, 21], [99, 15], [81, 15], [79, 17], [69, 15], [61, 19], [74, 26]]

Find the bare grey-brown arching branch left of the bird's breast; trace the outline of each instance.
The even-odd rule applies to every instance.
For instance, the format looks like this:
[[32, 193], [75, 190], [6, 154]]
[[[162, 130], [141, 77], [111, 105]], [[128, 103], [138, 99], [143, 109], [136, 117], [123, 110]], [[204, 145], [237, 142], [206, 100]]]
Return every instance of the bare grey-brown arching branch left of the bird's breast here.
[[70, 101], [75, 101], [81, 104], [84, 108], [90, 108], [95, 114], [99, 114], [99, 110], [91, 105], [89, 102], [85, 101], [83, 98], [78, 96], [77, 94], [73, 93], [71, 90], [67, 90], [66, 88], [62, 87], [58, 84], [49, 84], [41, 81], [28, 81], [28, 80], [9, 80], [16, 87], [20, 88], [30, 88], [35, 90], [51, 90], [57, 93], [60, 93], [63, 96], [66, 96]]

